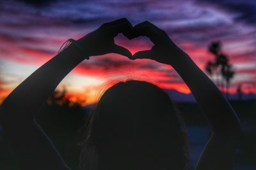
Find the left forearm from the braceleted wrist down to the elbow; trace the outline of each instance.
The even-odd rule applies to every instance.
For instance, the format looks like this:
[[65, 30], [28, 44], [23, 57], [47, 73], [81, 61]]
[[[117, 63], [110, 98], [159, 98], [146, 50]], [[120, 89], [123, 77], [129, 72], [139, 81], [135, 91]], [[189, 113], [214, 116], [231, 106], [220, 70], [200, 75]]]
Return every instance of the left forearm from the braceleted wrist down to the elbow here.
[[3, 101], [0, 111], [2, 121], [35, 118], [36, 111], [47, 101], [60, 81], [83, 59], [79, 49], [70, 45], [38, 68]]

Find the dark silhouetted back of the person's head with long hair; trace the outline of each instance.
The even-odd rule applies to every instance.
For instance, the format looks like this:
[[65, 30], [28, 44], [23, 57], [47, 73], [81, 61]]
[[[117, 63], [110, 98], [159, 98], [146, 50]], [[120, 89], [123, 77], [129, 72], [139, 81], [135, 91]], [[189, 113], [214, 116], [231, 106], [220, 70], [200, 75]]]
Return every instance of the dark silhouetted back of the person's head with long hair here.
[[145, 81], [106, 90], [87, 126], [84, 169], [141, 170], [188, 166], [184, 123], [162, 89]]

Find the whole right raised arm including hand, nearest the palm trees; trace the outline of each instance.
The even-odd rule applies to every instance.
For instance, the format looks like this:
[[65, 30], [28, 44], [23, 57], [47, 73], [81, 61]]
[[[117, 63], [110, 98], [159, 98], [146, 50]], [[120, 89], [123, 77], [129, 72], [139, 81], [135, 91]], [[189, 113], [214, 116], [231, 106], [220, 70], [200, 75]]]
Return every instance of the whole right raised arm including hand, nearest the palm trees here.
[[196, 170], [232, 169], [240, 134], [236, 112], [216, 85], [172, 42], [166, 32], [150, 22], [138, 24], [134, 29], [138, 35], [148, 36], [154, 43], [151, 50], [135, 53], [134, 59], [152, 59], [173, 66], [188, 85], [211, 125], [211, 138], [198, 160]]

